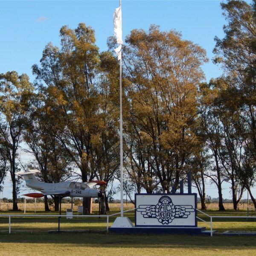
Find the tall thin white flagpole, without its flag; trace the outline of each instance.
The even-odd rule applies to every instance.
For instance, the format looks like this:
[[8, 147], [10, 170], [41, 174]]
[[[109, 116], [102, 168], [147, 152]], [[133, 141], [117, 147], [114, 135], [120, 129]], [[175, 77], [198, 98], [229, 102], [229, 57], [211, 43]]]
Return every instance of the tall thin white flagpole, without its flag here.
[[[121, 0], [119, 0], [119, 7], [121, 7]], [[120, 98], [120, 202], [121, 202], [121, 217], [124, 216], [124, 200], [123, 200], [123, 151], [122, 151], [122, 44], [121, 44], [121, 57], [119, 63], [119, 98]]]

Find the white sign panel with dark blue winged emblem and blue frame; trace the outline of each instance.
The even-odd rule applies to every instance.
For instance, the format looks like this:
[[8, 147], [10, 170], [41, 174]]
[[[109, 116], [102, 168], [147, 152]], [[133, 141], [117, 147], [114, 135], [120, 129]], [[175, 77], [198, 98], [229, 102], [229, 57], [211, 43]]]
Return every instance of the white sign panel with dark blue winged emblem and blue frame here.
[[196, 194], [135, 194], [135, 226], [196, 227]]

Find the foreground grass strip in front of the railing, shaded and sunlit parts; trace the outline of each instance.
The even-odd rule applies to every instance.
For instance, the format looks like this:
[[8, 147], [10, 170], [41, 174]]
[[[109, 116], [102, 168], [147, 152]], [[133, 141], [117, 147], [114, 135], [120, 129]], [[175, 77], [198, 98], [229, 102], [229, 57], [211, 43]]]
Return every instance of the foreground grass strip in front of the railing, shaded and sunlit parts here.
[[0, 255], [256, 255], [256, 237], [115, 235], [100, 233], [0, 234]]

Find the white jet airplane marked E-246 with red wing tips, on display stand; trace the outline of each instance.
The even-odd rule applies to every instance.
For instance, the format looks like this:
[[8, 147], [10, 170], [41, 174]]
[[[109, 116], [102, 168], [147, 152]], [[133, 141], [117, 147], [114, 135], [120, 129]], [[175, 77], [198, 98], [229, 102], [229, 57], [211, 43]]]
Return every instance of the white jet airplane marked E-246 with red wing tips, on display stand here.
[[63, 181], [58, 183], [45, 183], [36, 179], [34, 173], [40, 172], [38, 170], [29, 170], [29, 172], [16, 172], [17, 175], [22, 176], [26, 181], [26, 186], [31, 189], [40, 191], [41, 193], [26, 194], [30, 197], [42, 197], [44, 195], [59, 195], [61, 197], [85, 197], [85, 198], [99, 198], [103, 196], [103, 192], [97, 189], [92, 189], [94, 185], [104, 185], [105, 181], [93, 180], [89, 182], [74, 182]]

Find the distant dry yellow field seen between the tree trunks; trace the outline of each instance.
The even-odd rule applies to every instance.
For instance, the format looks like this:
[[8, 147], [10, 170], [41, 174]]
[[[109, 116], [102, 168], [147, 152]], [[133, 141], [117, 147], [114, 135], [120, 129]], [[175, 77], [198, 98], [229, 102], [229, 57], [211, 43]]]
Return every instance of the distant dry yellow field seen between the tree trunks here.
[[[18, 207], [20, 210], [24, 210], [24, 204], [23, 203], [18, 203]], [[233, 209], [233, 204], [232, 203], [224, 203], [225, 209]], [[250, 207], [253, 207], [253, 204], [250, 204]], [[71, 204], [61, 204], [61, 208], [63, 210], [71, 208]], [[109, 203], [109, 208], [111, 211], [113, 210], [118, 210], [120, 209], [120, 204], [112, 204]], [[124, 209], [131, 209], [134, 208], [134, 204], [132, 203], [124, 203]], [[198, 203], [198, 209], [201, 208], [201, 204]], [[50, 207], [51, 210], [54, 210], [54, 207]], [[78, 206], [73, 204], [73, 210], [77, 211]], [[93, 203], [93, 210], [97, 211], [99, 209], [99, 204]], [[218, 204], [216, 203], [211, 203], [207, 204], [207, 209], [218, 209]], [[239, 204], [239, 209], [241, 210], [246, 210], [247, 209], [247, 204]], [[5, 211], [5, 210], [12, 210], [12, 203], [3, 203], [3, 205], [0, 205], [0, 210]], [[26, 203], [26, 210], [33, 211], [35, 210], [35, 204], [34, 203]], [[36, 210], [38, 211], [43, 211], [44, 210], [44, 203], [36, 203]]]

